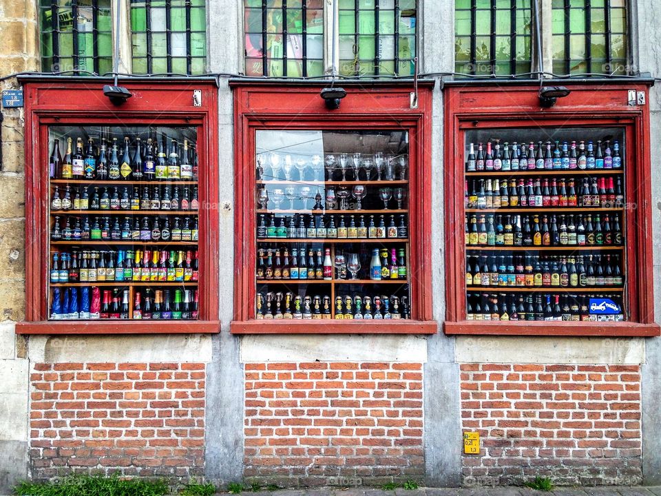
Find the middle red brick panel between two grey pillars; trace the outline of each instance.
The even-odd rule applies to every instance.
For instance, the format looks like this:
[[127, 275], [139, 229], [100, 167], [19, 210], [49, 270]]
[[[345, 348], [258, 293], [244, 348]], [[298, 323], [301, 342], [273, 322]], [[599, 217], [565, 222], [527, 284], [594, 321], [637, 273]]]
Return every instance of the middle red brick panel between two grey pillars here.
[[422, 364], [245, 365], [244, 477], [280, 486], [421, 479]]

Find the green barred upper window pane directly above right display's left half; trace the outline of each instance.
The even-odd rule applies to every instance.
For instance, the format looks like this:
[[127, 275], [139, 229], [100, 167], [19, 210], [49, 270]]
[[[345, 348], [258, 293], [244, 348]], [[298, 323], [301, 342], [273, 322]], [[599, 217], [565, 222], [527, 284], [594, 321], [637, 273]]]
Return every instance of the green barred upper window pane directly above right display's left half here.
[[454, 70], [507, 76], [531, 72], [532, 0], [457, 0]]

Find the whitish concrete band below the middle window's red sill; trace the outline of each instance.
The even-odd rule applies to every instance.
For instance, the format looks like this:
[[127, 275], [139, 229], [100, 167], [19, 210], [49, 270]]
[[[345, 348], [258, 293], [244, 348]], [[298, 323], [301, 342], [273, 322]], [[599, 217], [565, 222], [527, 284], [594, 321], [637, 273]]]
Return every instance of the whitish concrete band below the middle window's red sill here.
[[244, 335], [241, 362], [426, 362], [419, 335]]

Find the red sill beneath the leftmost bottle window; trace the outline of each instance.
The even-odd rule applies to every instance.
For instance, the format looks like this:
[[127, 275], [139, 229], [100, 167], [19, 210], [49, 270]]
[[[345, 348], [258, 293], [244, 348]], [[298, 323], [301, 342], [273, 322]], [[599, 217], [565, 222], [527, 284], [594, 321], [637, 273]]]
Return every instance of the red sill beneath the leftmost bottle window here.
[[17, 334], [196, 334], [218, 333], [218, 320], [69, 320], [17, 322]]

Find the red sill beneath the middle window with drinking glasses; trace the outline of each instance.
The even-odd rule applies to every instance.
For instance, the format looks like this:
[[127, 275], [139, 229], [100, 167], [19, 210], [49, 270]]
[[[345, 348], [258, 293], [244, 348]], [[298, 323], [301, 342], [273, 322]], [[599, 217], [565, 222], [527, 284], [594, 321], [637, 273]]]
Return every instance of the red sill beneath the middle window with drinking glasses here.
[[435, 320], [234, 320], [233, 334], [434, 334]]

